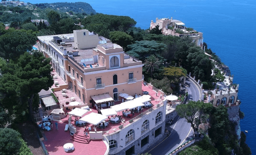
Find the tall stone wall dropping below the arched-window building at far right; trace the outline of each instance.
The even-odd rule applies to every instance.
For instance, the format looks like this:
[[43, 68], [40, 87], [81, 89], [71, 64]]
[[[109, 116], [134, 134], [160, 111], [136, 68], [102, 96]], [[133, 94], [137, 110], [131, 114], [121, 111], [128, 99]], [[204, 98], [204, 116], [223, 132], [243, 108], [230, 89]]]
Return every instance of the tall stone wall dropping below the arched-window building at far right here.
[[240, 128], [240, 118], [239, 118], [239, 108], [240, 105], [236, 106], [229, 106], [227, 108], [227, 113], [229, 114], [229, 120], [235, 122], [236, 125], [236, 132], [237, 132], [237, 138], [241, 138], [241, 128]]

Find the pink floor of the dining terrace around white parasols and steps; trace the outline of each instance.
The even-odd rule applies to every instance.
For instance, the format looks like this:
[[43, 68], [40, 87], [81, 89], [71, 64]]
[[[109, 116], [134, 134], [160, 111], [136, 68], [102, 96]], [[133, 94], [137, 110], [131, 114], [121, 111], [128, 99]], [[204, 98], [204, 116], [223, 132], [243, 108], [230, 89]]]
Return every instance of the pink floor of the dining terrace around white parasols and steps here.
[[[60, 80], [59, 80], [60, 81]], [[142, 84], [142, 92], [144, 91], [148, 91], [150, 96], [151, 96], [151, 103], [153, 104], [153, 106], [155, 106], [156, 104], [158, 104], [161, 100], [159, 99], [159, 95], [156, 96], [156, 92], [153, 89], [148, 88], [148, 86], [144, 86]], [[120, 101], [115, 102], [116, 104], [120, 104]], [[142, 112], [146, 111], [149, 108], [144, 108]], [[88, 115], [91, 112], [95, 112], [97, 113], [96, 109], [92, 109], [92, 111], [87, 112], [86, 115]], [[140, 112], [140, 113], [142, 113]], [[125, 121], [126, 123], [123, 125], [127, 125], [129, 124], [129, 120], [138, 116], [140, 113], [135, 113], [135, 115], [131, 118], [127, 118], [125, 117]], [[74, 125], [74, 117], [72, 117], [72, 124]], [[51, 131], [44, 131], [44, 138], [45, 140], [43, 141], [46, 149], [49, 152], [49, 155], [63, 155], [63, 154], [74, 154], [74, 155], [104, 155], [106, 152], [106, 144], [102, 141], [102, 140], [91, 140], [89, 144], [84, 144], [84, 143], [79, 143], [79, 142], [75, 142], [73, 140], [71, 140], [71, 135], [69, 130], [68, 131], [64, 131], [65, 125], [67, 124], [67, 120], [68, 117], [62, 119], [62, 122], [58, 122], [58, 130], [56, 129], [55, 125], [53, 127], [53, 129]], [[52, 121], [52, 123], [54, 124], [55, 121]], [[112, 133], [112, 131], [117, 131], [118, 127], [122, 125], [121, 123], [117, 123], [117, 124], [111, 124], [109, 123], [109, 126], [106, 127], [105, 129], [98, 129], [97, 131], [108, 131], [107, 134]], [[91, 126], [91, 128], [93, 129], [94, 125], [91, 124], [87, 124], [87, 132], [88, 131], [88, 126]], [[114, 129], [114, 130], [113, 130]], [[76, 127], [77, 130], [77, 135], [83, 136], [84, 133], [84, 127]], [[89, 134], [90, 136], [90, 134]], [[89, 138], [88, 137], [84, 137], [84, 138]], [[73, 143], [74, 144], [74, 148], [75, 150], [72, 152], [65, 152], [63, 149], [64, 144], [66, 143]]]

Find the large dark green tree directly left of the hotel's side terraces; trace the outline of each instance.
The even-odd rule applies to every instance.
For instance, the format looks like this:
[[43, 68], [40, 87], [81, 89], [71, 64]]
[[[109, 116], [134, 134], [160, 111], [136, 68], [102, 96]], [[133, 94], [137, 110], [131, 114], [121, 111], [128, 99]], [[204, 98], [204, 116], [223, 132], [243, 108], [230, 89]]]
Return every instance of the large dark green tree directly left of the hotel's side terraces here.
[[49, 63], [50, 59], [39, 52], [26, 52], [16, 62], [3, 62], [0, 78], [0, 93], [3, 96], [1, 107], [15, 114], [17, 120], [24, 120], [28, 112], [31, 117], [39, 103], [33, 104], [34, 96], [53, 85]]

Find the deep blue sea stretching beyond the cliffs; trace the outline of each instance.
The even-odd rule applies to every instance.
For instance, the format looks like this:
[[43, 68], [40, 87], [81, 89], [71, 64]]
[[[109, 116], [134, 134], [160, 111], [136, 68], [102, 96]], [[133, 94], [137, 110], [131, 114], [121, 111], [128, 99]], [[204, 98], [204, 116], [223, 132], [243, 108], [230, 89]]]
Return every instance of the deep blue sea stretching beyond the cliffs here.
[[[76, 2], [64, 0], [67, 2]], [[27, 0], [30, 3], [63, 0]], [[156, 18], [181, 20], [186, 27], [203, 32], [204, 42], [229, 66], [239, 84], [241, 131], [256, 154], [256, 1], [255, 0], [87, 0], [98, 13], [130, 16], [137, 27], [150, 27]]]

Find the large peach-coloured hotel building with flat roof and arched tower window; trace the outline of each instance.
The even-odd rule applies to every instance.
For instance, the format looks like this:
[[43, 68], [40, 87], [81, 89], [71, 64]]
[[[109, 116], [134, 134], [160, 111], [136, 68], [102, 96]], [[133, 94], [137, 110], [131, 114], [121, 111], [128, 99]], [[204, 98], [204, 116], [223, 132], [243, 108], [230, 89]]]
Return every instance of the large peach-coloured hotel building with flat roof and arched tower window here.
[[117, 101], [118, 93], [141, 93], [142, 61], [125, 54], [121, 46], [109, 39], [88, 30], [38, 39], [39, 50], [52, 58], [54, 70], [65, 81], [60, 90], [73, 90], [85, 105], [97, 104], [101, 109], [107, 105], [95, 101], [94, 96]]

